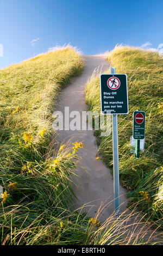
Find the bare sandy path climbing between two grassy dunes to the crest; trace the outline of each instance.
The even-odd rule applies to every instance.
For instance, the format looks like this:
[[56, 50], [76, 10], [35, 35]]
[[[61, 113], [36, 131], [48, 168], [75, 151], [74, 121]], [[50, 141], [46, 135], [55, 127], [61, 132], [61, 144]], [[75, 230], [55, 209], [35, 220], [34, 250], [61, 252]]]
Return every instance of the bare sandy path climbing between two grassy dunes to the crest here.
[[[55, 109], [62, 111], [62, 113], [64, 113], [66, 106], [70, 107], [70, 112], [79, 111], [82, 113], [82, 111], [87, 111], [84, 93], [87, 80], [96, 68], [102, 71], [109, 69], [104, 55], [84, 56], [84, 60], [85, 68], [82, 75], [74, 78], [72, 83], [60, 94], [60, 101]], [[82, 212], [88, 212], [88, 216], [95, 216], [99, 206], [104, 202], [105, 207], [98, 218], [101, 222], [105, 221], [114, 211], [114, 203], [111, 202], [113, 200], [113, 179], [110, 170], [103, 161], [96, 160], [98, 148], [93, 131], [59, 131], [59, 137], [60, 142], [64, 141], [64, 143], [69, 139], [72, 140], [72, 143], [76, 141], [84, 143], [84, 149], [79, 150], [80, 156], [82, 156], [80, 163], [82, 167], [77, 167], [78, 186], [72, 184], [74, 193], [78, 198], [74, 198], [75, 208], [78, 209], [82, 205], [86, 205]], [[85, 172], [83, 167], [89, 173]], [[76, 182], [76, 178], [73, 178], [73, 181]], [[126, 191], [122, 187], [120, 187], [120, 194], [120, 202], [123, 203], [121, 211], [123, 211], [126, 209], [127, 203], [124, 202], [127, 202], [127, 199]]]

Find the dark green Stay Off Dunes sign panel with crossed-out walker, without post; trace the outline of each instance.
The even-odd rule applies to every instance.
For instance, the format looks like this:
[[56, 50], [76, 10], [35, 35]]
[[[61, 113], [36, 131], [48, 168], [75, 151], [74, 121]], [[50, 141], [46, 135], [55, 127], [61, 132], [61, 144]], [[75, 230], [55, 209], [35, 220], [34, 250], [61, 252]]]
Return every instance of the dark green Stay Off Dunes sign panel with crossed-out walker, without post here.
[[127, 75], [102, 74], [100, 82], [102, 114], [128, 114]]

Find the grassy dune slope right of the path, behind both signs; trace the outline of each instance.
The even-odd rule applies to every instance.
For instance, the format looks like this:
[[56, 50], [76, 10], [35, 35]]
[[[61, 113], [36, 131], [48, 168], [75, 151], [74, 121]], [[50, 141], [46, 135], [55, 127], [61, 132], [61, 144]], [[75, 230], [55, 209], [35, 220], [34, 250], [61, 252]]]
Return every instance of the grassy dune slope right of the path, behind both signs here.
[[[129, 114], [118, 115], [121, 183], [127, 188], [131, 202], [139, 201], [139, 208], [151, 216], [150, 220], [162, 224], [163, 60], [157, 53], [121, 47], [109, 54], [108, 61], [116, 68], [117, 74], [128, 75]], [[100, 111], [99, 77], [87, 84], [86, 102], [92, 111]], [[133, 111], [136, 109], [146, 112], [145, 151], [140, 159], [135, 159], [129, 152]], [[111, 135], [100, 137], [99, 131], [96, 134], [103, 160], [112, 166]], [[142, 195], [140, 191], [143, 191]]]

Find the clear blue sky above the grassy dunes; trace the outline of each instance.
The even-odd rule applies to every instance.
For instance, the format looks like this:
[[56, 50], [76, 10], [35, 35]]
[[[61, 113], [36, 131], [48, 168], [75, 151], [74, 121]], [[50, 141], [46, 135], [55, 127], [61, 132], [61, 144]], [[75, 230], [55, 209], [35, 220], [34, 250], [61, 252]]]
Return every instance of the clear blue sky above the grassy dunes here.
[[0, 69], [69, 42], [83, 54], [163, 43], [162, 0], [0, 0], [0, 10]]

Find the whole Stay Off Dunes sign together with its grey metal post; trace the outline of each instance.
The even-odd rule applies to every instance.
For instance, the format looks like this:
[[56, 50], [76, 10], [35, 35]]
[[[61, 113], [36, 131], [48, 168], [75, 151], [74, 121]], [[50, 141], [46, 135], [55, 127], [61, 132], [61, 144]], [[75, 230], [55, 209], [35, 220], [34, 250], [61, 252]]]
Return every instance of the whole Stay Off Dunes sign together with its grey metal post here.
[[116, 74], [110, 68], [110, 74], [101, 74], [101, 113], [112, 115], [112, 148], [114, 169], [114, 210], [120, 215], [120, 175], [118, 155], [118, 114], [128, 114], [127, 75]]

